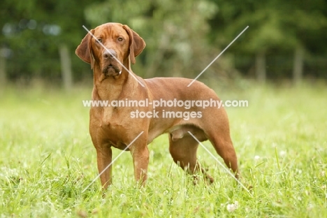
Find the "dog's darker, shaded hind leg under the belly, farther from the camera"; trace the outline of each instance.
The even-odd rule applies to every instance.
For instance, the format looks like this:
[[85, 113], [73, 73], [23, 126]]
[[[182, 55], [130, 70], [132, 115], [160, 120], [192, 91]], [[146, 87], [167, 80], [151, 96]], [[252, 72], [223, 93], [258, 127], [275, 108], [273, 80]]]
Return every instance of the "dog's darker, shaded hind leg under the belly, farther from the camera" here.
[[187, 173], [194, 175], [194, 183], [196, 183], [196, 173], [201, 170], [205, 180], [209, 183], [214, 182], [214, 179], [208, 175], [200, 163], [196, 159], [196, 151], [198, 142], [191, 136], [185, 135], [183, 138], [173, 140], [169, 134], [169, 151], [175, 163], [177, 163]]

